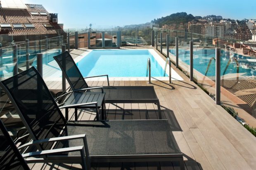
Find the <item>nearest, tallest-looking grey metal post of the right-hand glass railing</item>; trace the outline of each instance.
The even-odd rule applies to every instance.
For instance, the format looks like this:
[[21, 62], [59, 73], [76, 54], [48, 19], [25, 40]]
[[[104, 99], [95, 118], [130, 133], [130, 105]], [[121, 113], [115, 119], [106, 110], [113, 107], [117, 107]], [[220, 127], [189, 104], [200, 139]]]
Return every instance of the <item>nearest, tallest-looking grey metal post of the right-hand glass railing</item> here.
[[215, 104], [220, 105], [220, 48], [215, 49], [215, 58], [216, 58], [216, 75], [215, 75]]

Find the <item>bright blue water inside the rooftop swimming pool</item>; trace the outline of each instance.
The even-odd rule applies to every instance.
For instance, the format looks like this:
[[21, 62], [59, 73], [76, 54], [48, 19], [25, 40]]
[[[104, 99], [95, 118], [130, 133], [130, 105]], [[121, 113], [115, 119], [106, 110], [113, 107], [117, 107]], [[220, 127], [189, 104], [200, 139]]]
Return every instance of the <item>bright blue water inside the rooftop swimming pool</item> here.
[[109, 77], [146, 77], [148, 58], [151, 76], [163, 77], [163, 68], [149, 50], [93, 50], [76, 65], [84, 77], [106, 74]]

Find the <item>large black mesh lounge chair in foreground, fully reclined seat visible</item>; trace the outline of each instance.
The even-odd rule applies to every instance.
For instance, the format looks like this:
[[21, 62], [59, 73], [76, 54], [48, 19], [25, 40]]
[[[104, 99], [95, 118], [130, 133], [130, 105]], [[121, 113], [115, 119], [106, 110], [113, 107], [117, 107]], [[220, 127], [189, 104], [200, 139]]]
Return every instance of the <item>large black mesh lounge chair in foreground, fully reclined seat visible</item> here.
[[[37, 144], [44, 151], [84, 146], [87, 166], [90, 162], [179, 161], [184, 170], [183, 154], [167, 120], [66, 121], [35, 68], [0, 85], [35, 141], [20, 148]], [[44, 160], [81, 163], [81, 153], [63, 150]]]

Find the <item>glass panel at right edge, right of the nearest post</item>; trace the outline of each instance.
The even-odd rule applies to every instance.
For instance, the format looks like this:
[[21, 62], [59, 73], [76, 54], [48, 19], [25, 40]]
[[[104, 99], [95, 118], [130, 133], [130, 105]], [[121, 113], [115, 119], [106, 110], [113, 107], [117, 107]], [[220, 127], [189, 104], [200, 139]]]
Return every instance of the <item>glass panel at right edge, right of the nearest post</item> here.
[[256, 53], [249, 42], [220, 38], [221, 101], [227, 98], [256, 118]]

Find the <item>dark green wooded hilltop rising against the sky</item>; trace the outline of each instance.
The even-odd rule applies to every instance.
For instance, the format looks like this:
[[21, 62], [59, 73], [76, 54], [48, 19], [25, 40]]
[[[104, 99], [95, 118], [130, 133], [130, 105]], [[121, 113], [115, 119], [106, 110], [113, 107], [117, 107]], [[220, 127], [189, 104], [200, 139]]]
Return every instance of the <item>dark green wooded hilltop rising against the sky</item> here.
[[187, 14], [186, 12], [178, 12], [176, 14], [171, 14], [169, 16], [165, 16], [159, 19], [154, 19], [151, 22], [159, 24], [159, 27], [163, 26], [164, 24], [180, 24], [180, 23], [188, 23], [192, 21], [195, 17], [192, 14]]

